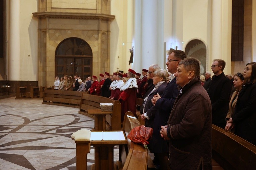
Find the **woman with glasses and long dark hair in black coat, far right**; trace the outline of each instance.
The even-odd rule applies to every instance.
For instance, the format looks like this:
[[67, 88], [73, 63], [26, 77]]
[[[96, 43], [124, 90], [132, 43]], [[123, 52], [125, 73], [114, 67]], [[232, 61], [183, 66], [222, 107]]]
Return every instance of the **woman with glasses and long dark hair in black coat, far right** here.
[[239, 93], [234, 115], [229, 123], [234, 123], [235, 134], [256, 145], [256, 63], [246, 64], [245, 86]]

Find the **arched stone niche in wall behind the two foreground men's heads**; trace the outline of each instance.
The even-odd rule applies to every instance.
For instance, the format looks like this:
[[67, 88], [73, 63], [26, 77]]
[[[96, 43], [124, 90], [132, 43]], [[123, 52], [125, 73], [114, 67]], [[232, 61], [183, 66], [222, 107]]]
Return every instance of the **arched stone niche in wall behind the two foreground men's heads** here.
[[208, 48], [200, 39], [192, 39], [185, 46], [185, 53], [188, 57], [197, 58], [200, 64], [200, 75], [204, 75], [208, 70]]

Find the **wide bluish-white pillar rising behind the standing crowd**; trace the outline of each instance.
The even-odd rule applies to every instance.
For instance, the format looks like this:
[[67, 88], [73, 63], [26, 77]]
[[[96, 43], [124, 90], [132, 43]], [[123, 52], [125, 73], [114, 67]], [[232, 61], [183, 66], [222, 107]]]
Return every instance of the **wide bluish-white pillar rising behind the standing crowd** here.
[[164, 1], [135, 1], [135, 70], [148, 69], [151, 64], [164, 67]]

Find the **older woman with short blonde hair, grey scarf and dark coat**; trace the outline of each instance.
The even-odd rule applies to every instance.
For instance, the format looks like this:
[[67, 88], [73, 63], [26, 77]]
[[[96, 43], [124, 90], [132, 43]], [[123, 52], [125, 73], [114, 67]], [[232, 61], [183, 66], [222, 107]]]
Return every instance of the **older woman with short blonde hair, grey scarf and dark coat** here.
[[[163, 113], [159, 113], [153, 106], [151, 99], [155, 94], [162, 96], [168, 81], [168, 72], [166, 70], [160, 69], [154, 72], [153, 84], [155, 88], [149, 93], [149, 95], [144, 99], [144, 109], [142, 112], [142, 119], [145, 120], [145, 126], [153, 128], [153, 135], [149, 141], [148, 147], [151, 153], [154, 153], [155, 157], [159, 161], [162, 170], [166, 169], [168, 164], [168, 145], [167, 142], [160, 136], [159, 131], [161, 125], [164, 125], [168, 116], [163, 116]], [[159, 129], [160, 128], [160, 129]], [[165, 149], [161, 149], [161, 148]]]

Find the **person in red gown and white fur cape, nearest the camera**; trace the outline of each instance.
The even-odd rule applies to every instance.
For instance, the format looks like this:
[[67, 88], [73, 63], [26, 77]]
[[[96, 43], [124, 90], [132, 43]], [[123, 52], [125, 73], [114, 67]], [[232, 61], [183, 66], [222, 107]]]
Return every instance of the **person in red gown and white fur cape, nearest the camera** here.
[[119, 100], [121, 102], [121, 121], [123, 121], [124, 114], [131, 111], [134, 116], [136, 114], [136, 96], [137, 96], [137, 81], [135, 78], [136, 72], [129, 69], [127, 73], [128, 81], [121, 87]]

